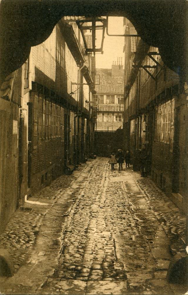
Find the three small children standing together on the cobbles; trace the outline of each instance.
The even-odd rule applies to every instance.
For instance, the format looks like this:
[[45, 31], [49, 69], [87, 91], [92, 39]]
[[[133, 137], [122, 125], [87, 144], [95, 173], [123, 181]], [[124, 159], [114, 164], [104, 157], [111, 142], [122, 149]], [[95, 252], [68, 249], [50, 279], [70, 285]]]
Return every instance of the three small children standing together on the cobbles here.
[[119, 149], [117, 154], [111, 153], [108, 163], [111, 164], [112, 170], [114, 170], [114, 165], [117, 163], [119, 164], [119, 170], [122, 170], [124, 160], [125, 160], [126, 168], [127, 168], [127, 167], [129, 167], [130, 159], [131, 159], [131, 156], [130, 156], [129, 150], [126, 150], [126, 154], [124, 156], [123, 151], [121, 149]]

